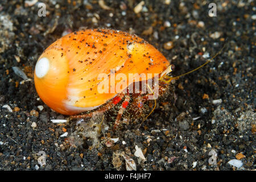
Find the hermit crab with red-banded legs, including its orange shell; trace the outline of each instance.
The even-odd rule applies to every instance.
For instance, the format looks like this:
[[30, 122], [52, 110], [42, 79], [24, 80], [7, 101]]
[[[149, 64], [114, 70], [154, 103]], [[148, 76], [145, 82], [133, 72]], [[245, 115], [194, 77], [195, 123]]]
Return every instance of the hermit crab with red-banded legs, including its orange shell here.
[[34, 81], [42, 101], [71, 118], [92, 117], [119, 105], [116, 128], [126, 107], [142, 109], [167, 90], [177, 78], [168, 76], [173, 68], [137, 35], [97, 28], [52, 43], [36, 63]]

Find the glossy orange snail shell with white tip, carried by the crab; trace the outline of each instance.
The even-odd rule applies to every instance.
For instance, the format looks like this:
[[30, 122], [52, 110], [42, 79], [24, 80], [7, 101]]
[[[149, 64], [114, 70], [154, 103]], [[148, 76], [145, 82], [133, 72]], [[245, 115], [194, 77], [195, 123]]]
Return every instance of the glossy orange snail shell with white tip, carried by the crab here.
[[166, 74], [169, 66], [162, 53], [136, 35], [82, 30], [63, 36], [43, 52], [35, 66], [35, 88], [51, 109], [73, 115], [96, 109], [117, 95], [98, 92], [99, 73], [109, 75], [110, 69], [115, 69], [115, 74], [127, 78], [129, 73], [154, 76]]

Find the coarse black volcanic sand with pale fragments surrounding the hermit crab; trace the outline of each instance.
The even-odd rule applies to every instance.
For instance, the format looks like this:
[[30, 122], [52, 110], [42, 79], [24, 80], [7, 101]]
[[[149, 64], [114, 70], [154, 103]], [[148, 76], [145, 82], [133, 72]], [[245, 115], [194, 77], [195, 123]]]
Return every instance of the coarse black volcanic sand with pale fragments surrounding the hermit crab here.
[[[212, 1], [169, 5], [165, 0], [145, 1], [138, 14], [134, 7], [140, 1], [132, 0], [105, 1], [110, 10], [102, 9], [98, 1], [40, 2], [46, 3], [46, 17], [38, 16], [38, 4], [0, 2], [0, 169], [126, 170], [123, 154], [134, 160], [137, 170], [255, 169], [253, 1], [216, 1], [216, 17], [208, 15]], [[98, 134], [94, 122], [100, 122], [102, 115], [81, 123], [52, 123], [50, 119], [67, 116], [38, 99], [32, 77], [44, 49], [63, 32], [82, 27], [141, 36], [175, 65], [176, 76], [199, 67], [225, 47], [204, 68], [170, 84], [170, 92], [157, 101], [139, 130], [141, 121], [124, 117], [129, 124], [113, 131], [115, 112], [109, 111]], [[150, 27], [152, 31], [144, 32]], [[164, 43], [170, 41], [174, 47], [167, 50]], [[31, 80], [24, 82], [12, 67], [22, 69]], [[61, 137], [65, 130], [67, 137]], [[107, 142], [109, 138], [118, 141]], [[136, 145], [146, 160], [134, 155]], [[212, 150], [217, 159], [210, 165]], [[38, 163], [39, 151], [46, 152], [46, 165]], [[231, 166], [232, 159], [240, 159], [242, 167]]]

